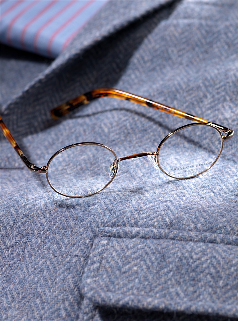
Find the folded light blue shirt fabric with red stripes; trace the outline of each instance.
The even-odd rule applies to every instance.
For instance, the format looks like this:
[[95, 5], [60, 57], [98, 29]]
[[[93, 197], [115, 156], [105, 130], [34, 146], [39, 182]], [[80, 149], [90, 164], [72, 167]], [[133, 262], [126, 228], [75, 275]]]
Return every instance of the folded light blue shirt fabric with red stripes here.
[[2, 0], [1, 42], [57, 57], [108, 0]]

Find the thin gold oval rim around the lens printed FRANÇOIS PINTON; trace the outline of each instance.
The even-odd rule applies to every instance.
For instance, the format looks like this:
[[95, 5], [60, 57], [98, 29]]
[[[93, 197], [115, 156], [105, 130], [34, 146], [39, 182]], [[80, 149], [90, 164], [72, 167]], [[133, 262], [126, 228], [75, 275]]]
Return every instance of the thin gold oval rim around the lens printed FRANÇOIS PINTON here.
[[[176, 176], [169, 175], [160, 166], [160, 148], [167, 141], [167, 139], [169, 139], [169, 137], [171, 137], [173, 134], [179, 132], [180, 130], [183, 130], [184, 128], [191, 127], [191, 126], [209, 126], [209, 127], [214, 128], [219, 133], [219, 135], [221, 137], [221, 149], [220, 149], [220, 152], [218, 153], [218, 155], [217, 155], [216, 159], [214, 160], [214, 162], [207, 169], [203, 170], [199, 174], [188, 176], [188, 177], [176, 177]], [[162, 139], [162, 141], [160, 142], [160, 144], [159, 144], [159, 146], [157, 148], [158, 155], [155, 155], [155, 161], [156, 161], [157, 165], [159, 166], [159, 168], [162, 170], [162, 172], [164, 174], [168, 175], [169, 177], [177, 178], [177, 179], [187, 179], [187, 178], [197, 177], [197, 176], [203, 174], [204, 172], [206, 172], [208, 169], [210, 169], [215, 164], [215, 162], [218, 160], [219, 156], [221, 155], [222, 149], [223, 149], [223, 141], [224, 141], [224, 139], [223, 139], [223, 136], [222, 136], [221, 132], [215, 126], [212, 126], [210, 124], [203, 124], [203, 123], [193, 123], [193, 124], [184, 125], [184, 126], [181, 126], [181, 127], [177, 128], [177, 129], [173, 130], [166, 137], [164, 137], [164, 139]]]

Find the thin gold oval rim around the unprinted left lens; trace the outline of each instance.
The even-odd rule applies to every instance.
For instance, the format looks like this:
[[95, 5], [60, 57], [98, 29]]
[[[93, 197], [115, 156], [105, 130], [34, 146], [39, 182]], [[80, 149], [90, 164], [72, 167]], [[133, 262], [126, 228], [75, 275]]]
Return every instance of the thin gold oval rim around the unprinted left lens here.
[[[50, 165], [51, 161], [52, 161], [58, 154], [60, 154], [61, 152], [65, 151], [66, 149], [69, 149], [69, 148], [72, 148], [72, 147], [76, 147], [76, 146], [80, 146], [80, 145], [96, 145], [96, 146], [103, 147], [103, 148], [109, 150], [110, 152], [112, 152], [112, 154], [113, 154], [114, 157], [115, 157], [115, 160], [117, 159], [117, 156], [116, 156], [115, 152], [114, 152], [110, 147], [108, 147], [108, 146], [106, 146], [106, 145], [103, 145], [103, 144], [101, 144], [101, 143], [92, 143], [92, 142], [77, 143], [77, 144], [72, 144], [72, 145], [66, 146], [66, 147], [64, 147], [64, 148], [61, 148], [58, 152], [54, 153], [54, 154], [50, 157], [50, 159], [48, 160], [48, 163], [47, 163], [47, 168], [48, 168], [48, 170], [49, 170], [49, 165]], [[109, 167], [109, 169], [110, 169], [110, 167]], [[64, 193], [61, 193], [61, 192], [57, 191], [57, 190], [51, 185], [51, 183], [50, 183], [50, 180], [49, 180], [49, 178], [48, 178], [48, 170], [47, 170], [47, 172], [46, 172], [47, 182], [48, 182], [48, 184], [50, 185], [50, 187], [51, 187], [56, 193], [58, 193], [58, 194], [60, 194], [60, 195], [63, 195], [63, 196], [67, 196], [67, 197], [82, 198], [82, 197], [86, 197], [86, 196], [91, 196], [91, 195], [97, 194], [97, 193], [101, 192], [105, 187], [107, 187], [107, 186], [114, 180], [114, 178], [115, 178], [115, 176], [116, 176], [116, 173], [117, 173], [117, 170], [118, 170], [118, 164], [116, 163], [116, 168], [115, 168], [113, 177], [110, 179], [110, 181], [109, 181], [104, 187], [100, 188], [98, 191], [96, 191], [96, 192], [94, 192], [94, 193], [87, 194], [87, 195], [67, 195], [67, 194], [64, 194]]]

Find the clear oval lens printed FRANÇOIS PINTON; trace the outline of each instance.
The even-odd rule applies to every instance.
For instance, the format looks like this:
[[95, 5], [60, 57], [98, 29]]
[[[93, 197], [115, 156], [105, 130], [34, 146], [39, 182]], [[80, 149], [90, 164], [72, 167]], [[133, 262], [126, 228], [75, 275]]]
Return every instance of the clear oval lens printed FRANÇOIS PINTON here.
[[213, 166], [222, 146], [222, 135], [215, 127], [199, 123], [183, 126], [162, 141], [160, 169], [174, 178], [197, 176]]

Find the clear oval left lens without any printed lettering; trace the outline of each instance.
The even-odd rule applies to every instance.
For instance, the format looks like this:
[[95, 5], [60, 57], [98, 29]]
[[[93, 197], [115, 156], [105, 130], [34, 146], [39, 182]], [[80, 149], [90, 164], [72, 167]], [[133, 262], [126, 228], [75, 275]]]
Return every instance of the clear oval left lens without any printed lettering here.
[[99, 192], [110, 178], [110, 166], [116, 155], [109, 147], [97, 143], [70, 145], [49, 160], [47, 180], [57, 193], [69, 197], [88, 196]]

